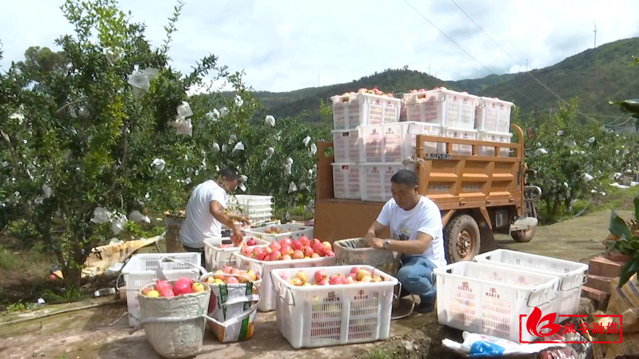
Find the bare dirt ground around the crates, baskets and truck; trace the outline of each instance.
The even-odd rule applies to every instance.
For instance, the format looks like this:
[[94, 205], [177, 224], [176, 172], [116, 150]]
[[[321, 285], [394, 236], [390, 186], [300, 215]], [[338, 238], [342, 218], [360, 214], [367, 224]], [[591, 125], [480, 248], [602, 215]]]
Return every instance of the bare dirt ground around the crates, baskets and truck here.
[[[629, 217], [629, 212], [622, 212]], [[577, 219], [552, 224], [537, 229], [535, 238], [528, 243], [515, 243], [510, 237], [497, 238], [503, 248], [542, 254], [573, 261], [585, 261], [604, 250], [601, 240], [608, 233], [610, 212], [596, 212]], [[107, 304], [104, 304], [107, 303]], [[55, 314], [31, 319], [17, 324], [8, 321], [42, 316], [70, 307], [104, 304], [89, 309]], [[408, 302], [401, 303], [398, 312], [407, 309]], [[4, 313], [0, 315], [1, 358], [159, 358], [146, 341], [144, 330], [128, 333], [127, 319], [113, 326], [127, 311], [122, 302], [113, 298], [84, 300], [75, 304], [50, 305], [33, 312]], [[201, 358], [399, 358], [448, 357], [451, 353], [438, 344], [443, 337], [459, 340], [460, 332], [438, 325], [436, 314], [413, 314], [392, 322], [391, 340], [387, 342], [335, 346], [318, 349], [295, 350], [277, 329], [275, 312], [259, 313], [254, 338], [250, 341], [220, 344], [206, 333]], [[4, 324], [3, 324], [4, 323]], [[410, 345], [409, 345], [410, 344]], [[426, 348], [429, 347], [429, 348]], [[408, 350], [410, 348], [410, 351]], [[430, 354], [428, 354], [430, 353]]]

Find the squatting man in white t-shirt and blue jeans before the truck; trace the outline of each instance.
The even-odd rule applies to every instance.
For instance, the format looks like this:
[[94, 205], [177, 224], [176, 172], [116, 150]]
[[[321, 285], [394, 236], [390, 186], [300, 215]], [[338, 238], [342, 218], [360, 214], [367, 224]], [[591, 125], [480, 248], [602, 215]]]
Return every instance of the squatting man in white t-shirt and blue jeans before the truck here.
[[[403, 254], [397, 279], [408, 293], [419, 295], [415, 311], [426, 313], [435, 307], [433, 268], [446, 265], [443, 249], [442, 214], [437, 205], [419, 194], [417, 175], [400, 170], [390, 179], [393, 198], [366, 233], [367, 247], [390, 249]], [[377, 238], [390, 226], [390, 238]]]

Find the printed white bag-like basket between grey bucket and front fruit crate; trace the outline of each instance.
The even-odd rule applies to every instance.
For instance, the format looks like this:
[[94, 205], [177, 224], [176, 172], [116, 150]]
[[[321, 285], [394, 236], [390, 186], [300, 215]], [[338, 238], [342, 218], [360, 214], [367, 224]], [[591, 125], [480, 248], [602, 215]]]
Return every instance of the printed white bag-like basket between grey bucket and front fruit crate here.
[[[202, 278], [210, 276], [212, 274], [206, 274]], [[211, 300], [206, 319], [217, 340], [223, 343], [237, 342], [253, 336], [260, 284], [261, 280], [208, 285], [211, 288]]]

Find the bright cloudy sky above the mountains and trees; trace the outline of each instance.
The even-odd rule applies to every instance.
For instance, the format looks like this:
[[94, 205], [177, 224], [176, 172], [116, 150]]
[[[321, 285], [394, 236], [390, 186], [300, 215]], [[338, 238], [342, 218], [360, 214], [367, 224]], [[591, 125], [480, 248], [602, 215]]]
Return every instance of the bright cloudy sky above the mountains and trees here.
[[[639, 1], [455, 0], [512, 57], [504, 54], [450, 0], [288, 1], [185, 0], [174, 34], [174, 66], [188, 71], [206, 54], [231, 70], [245, 70], [258, 90], [289, 91], [349, 82], [408, 65], [444, 80], [489, 71], [460, 50], [419, 11], [495, 73], [542, 68], [593, 46], [639, 36]], [[56, 0], [4, 1], [0, 70], [31, 45], [54, 46], [72, 33]], [[121, 0], [146, 23], [155, 45], [164, 39], [174, 1]], [[521, 65], [521, 66], [520, 66]]]

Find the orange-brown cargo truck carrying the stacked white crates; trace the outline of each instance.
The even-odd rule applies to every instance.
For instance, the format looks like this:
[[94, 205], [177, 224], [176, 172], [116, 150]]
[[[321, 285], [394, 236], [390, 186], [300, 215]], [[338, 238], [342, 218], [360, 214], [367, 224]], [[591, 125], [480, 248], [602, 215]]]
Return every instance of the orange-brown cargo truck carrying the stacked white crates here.
[[[417, 136], [417, 158], [408, 162], [417, 166], [420, 193], [442, 211], [449, 262], [472, 260], [477, 253], [495, 249], [493, 233], [511, 234], [520, 242], [534, 235], [536, 219], [523, 217], [523, 131], [516, 125], [511, 128], [519, 143]], [[427, 153], [433, 143], [443, 143], [443, 153]], [[452, 153], [458, 146], [470, 147], [472, 154]], [[334, 158], [325, 155], [328, 147], [332, 142], [318, 143], [315, 235], [330, 241], [362, 237], [384, 203], [334, 198]], [[482, 149], [493, 149], [493, 155], [480, 155]], [[502, 149], [512, 150], [512, 156], [502, 156]], [[511, 226], [518, 230], [511, 232]]]

